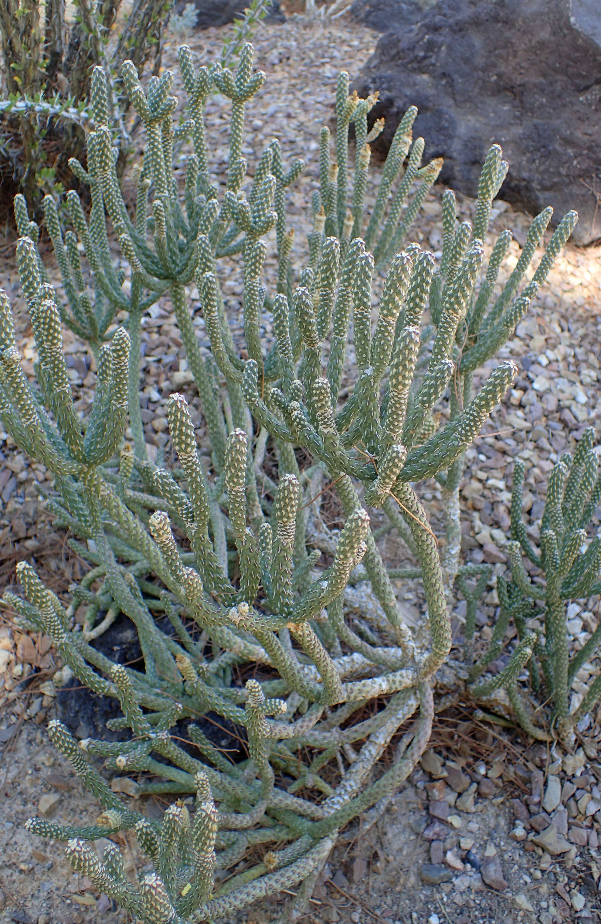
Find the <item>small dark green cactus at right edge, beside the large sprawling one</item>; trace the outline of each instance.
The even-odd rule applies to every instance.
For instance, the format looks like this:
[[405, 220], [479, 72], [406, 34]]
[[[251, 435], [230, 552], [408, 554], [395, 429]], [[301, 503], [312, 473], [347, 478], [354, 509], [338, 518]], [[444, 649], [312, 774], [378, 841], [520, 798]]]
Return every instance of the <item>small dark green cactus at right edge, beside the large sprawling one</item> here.
[[[594, 452], [595, 430], [584, 431], [573, 459], [566, 453], [551, 470], [546, 505], [540, 529], [539, 549], [530, 541], [521, 518], [524, 466], [518, 459], [513, 468], [511, 494], [511, 537], [509, 563], [511, 579], [497, 579], [500, 614], [490, 648], [472, 669], [472, 696], [489, 695], [505, 689], [516, 720], [529, 735], [546, 738], [534, 722], [517, 685], [521, 669], [530, 664], [535, 695], [551, 704], [558, 736], [571, 748], [574, 726], [590, 712], [601, 697], [601, 680], [596, 677], [579, 702], [570, 706], [570, 687], [574, 677], [598, 649], [601, 628], [570, 658], [567, 610], [571, 601], [595, 596], [601, 590], [601, 539], [590, 539], [586, 529], [601, 502], [599, 462]], [[524, 567], [524, 556], [534, 565], [531, 579]], [[544, 583], [536, 579], [544, 578]], [[541, 630], [529, 628], [528, 621], [540, 618]], [[481, 675], [501, 650], [503, 637], [513, 621], [520, 639], [508, 666], [491, 680]], [[480, 681], [480, 682], [478, 682]], [[543, 688], [544, 687], [544, 694]]]

